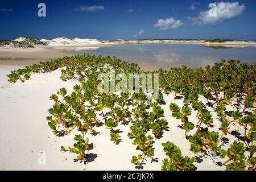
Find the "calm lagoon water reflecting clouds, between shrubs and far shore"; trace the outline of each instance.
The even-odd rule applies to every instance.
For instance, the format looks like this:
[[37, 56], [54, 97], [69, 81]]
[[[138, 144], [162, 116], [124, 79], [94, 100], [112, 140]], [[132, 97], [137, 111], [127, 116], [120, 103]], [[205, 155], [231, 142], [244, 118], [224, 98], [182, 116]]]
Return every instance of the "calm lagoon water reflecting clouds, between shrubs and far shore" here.
[[122, 60], [138, 63], [144, 69], [181, 67], [190, 68], [213, 65], [221, 59], [238, 59], [241, 63], [253, 63], [256, 48], [205, 47], [199, 44], [125, 44], [93, 49], [66, 49], [72, 54], [90, 53], [93, 55], [116, 56]]

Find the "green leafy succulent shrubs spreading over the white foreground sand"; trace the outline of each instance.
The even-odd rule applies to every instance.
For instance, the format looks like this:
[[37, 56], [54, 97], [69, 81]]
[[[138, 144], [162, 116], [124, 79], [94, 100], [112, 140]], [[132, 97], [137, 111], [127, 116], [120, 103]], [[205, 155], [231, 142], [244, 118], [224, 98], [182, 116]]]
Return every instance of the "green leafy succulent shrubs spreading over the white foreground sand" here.
[[[118, 144], [122, 142], [118, 126], [127, 125], [130, 128], [127, 137], [138, 152], [138, 155], [130, 156], [131, 163], [143, 169], [145, 160], [155, 161], [155, 141], [161, 140], [170, 129], [172, 123], [167, 122], [170, 118], [180, 122], [181, 132], [190, 143], [189, 150], [195, 155], [216, 154], [217, 160], [225, 159], [220, 165], [226, 170], [256, 170], [254, 64], [221, 60], [212, 67], [191, 69], [183, 65], [145, 72], [137, 64], [116, 57], [77, 55], [18, 69], [7, 77], [11, 83], [24, 82], [32, 73], [52, 72], [58, 68], [61, 69], [61, 80], [77, 80], [79, 84], [73, 87], [71, 94], [65, 88], [52, 94], [53, 106], [47, 121], [55, 135], [78, 133], [73, 148], [61, 147], [61, 151], [77, 154], [77, 160], [86, 163], [86, 150], [93, 148], [93, 144], [84, 138], [88, 133], [100, 137], [98, 128], [105, 126], [110, 131], [110, 140]], [[128, 73], [158, 73], [159, 97], [154, 100], [149, 92], [99, 93], [98, 75], [109, 74], [111, 69], [115, 69], [115, 75], [125, 73], [127, 77]], [[173, 97], [172, 93], [174, 102], [170, 103], [170, 111], [166, 113], [163, 106], [167, 101], [163, 94]], [[181, 99], [182, 105], [178, 105], [176, 101]], [[232, 107], [235, 109], [231, 110]], [[191, 119], [192, 113], [196, 113], [194, 119]], [[220, 128], [213, 130], [213, 125], [220, 125]], [[243, 133], [238, 133], [239, 129]], [[234, 141], [231, 142], [229, 137], [235, 138]], [[166, 142], [162, 146], [167, 156], [162, 170], [196, 170], [197, 160], [194, 156], [184, 156], [179, 143]]]

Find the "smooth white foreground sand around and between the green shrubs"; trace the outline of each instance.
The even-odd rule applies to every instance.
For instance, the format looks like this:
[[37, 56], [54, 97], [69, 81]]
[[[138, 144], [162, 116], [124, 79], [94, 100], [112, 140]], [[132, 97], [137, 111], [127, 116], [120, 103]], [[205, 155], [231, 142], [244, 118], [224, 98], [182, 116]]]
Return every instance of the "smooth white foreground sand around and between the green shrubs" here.
[[[75, 154], [61, 152], [61, 146], [73, 146], [73, 134], [66, 137], [56, 137], [52, 134], [47, 125], [46, 117], [49, 115], [48, 109], [53, 105], [49, 100], [51, 94], [56, 93], [62, 87], [67, 88], [70, 94], [76, 81], [63, 82], [60, 80], [60, 69], [52, 73], [35, 73], [31, 79], [21, 83], [9, 84], [6, 75], [13, 69], [20, 67], [0, 65], [0, 170], [135, 170], [135, 165], [130, 163], [131, 156], [138, 155], [139, 151], [133, 146], [133, 139], [127, 137], [130, 126], [119, 125], [117, 129], [121, 133], [122, 142], [119, 145], [110, 141], [109, 130], [101, 126], [97, 130], [100, 135], [89, 137], [90, 142], [96, 146], [89, 153], [97, 155], [94, 161], [87, 163], [73, 162]], [[160, 170], [162, 160], [166, 158], [161, 143], [170, 140], [180, 147], [183, 155], [199, 156], [189, 151], [190, 143], [184, 137], [184, 130], [178, 126], [181, 121], [172, 118], [169, 111], [170, 102], [174, 96], [164, 95], [167, 104], [163, 105], [164, 114], [168, 121], [169, 131], [164, 131], [163, 138], [156, 139], [154, 143], [155, 158], [159, 162], [147, 160], [143, 165], [146, 170]], [[203, 100], [205, 102], [205, 100]], [[181, 106], [182, 100], [175, 100]], [[231, 110], [232, 107], [228, 107]], [[212, 109], [210, 110], [212, 111]], [[216, 118], [216, 114], [213, 114]], [[192, 111], [189, 121], [196, 123], [196, 112]], [[214, 130], [220, 126], [220, 122], [214, 119]], [[210, 128], [210, 130], [213, 130]], [[194, 129], [189, 134], [195, 133]], [[219, 130], [218, 130], [219, 131]], [[220, 131], [219, 131], [220, 132]], [[241, 129], [242, 133], [242, 129]], [[220, 133], [221, 134], [221, 133]], [[228, 137], [230, 143], [234, 138]], [[224, 148], [229, 147], [226, 144]], [[46, 152], [46, 165], [38, 164], [38, 152]], [[225, 160], [225, 159], [224, 159]], [[217, 162], [224, 162], [217, 159]], [[203, 158], [203, 162], [195, 163], [198, 170], [224, 170], [225, 167], [218, 167], [210, 164], [208, 158]]]

